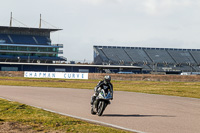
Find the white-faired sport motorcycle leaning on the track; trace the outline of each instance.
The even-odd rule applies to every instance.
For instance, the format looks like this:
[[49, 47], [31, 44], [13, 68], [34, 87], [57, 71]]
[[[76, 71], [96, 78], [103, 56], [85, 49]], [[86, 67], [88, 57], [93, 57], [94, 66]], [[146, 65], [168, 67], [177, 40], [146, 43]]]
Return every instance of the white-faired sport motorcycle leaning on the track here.
[[105, 90], [101, 89], [100, 93], [96, 97], [96, 100], [92, 104], [91, 114], [95, 115], [97, 113], [98, 116], [101, 116], [107, 105], [110, 104], [110, 99], [112, 99], [110, 91], [105, 93]]

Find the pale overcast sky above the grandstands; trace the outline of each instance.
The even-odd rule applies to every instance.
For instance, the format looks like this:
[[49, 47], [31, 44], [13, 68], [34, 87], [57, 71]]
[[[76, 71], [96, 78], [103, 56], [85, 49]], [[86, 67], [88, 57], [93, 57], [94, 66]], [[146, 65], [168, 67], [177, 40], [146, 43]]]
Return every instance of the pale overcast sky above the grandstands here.
[[[199, 0], [1, 0], [0, 25], [60, 28], [68, 61], [93, 61], [93, 46], [200, 49]], [[17, 20], [17, 21], [16, 21]], [[21, 24], [21, 23], [25, 24]]]

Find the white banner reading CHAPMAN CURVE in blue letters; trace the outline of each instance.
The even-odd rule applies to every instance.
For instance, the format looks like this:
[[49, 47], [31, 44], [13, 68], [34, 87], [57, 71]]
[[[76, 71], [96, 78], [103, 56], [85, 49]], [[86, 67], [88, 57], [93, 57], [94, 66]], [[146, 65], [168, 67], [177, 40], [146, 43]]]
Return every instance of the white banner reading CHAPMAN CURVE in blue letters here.
[[66, 72], [24, 72], [27, 78], [61, 78], [61, 79], [88, 79], [88, 73], [66, 73]]

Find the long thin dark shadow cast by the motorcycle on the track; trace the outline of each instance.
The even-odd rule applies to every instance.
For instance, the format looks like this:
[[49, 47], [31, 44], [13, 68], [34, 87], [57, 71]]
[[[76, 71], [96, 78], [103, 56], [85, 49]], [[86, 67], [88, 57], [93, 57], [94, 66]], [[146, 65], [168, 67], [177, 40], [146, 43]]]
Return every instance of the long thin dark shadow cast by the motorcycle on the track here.
[[169, 115], [139, 115], [139, 114], [104, 114], [103, 116], [106, 117], [175, 117], [175, 116], [169, 116]]

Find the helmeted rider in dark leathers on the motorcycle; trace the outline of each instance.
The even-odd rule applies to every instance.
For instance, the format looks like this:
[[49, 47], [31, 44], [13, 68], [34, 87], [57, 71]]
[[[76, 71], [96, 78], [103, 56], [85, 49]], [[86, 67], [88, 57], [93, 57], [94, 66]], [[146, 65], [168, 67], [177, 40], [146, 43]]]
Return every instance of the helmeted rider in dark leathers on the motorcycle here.
[[[95, 101], [96, 97], [98, 96], [99, 92], [101, 91], [101, 89], [104, 89], [105, 92], [107, 93], [108, 90], [111, 93], [112, 99], [113, 99], [113, 85], [110, 82], [111, 81], [111, 77], [109, 75], [104, 77], [104, 80], [99, 81], [99, 83], [97, 84], [97, 86], [94, 88], [94, 95], [92, 96], [91, 99], [91, 105], [93, 104], [93, 102]], [[111, 99], [111, 100], [112, 100]]]

